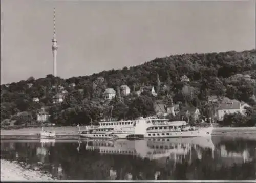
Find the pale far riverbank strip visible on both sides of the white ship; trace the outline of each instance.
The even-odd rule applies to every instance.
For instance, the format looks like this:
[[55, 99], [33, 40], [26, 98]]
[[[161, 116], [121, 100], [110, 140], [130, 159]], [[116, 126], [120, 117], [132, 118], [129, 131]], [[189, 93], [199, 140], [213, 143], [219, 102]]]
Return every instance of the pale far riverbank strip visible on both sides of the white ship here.
[[[55, 131], [56, 139], [77, 139], [76, 127], [45, 127]], [[1, 139], [38, 139], [41, 128], [22, 128], [16, 130], [1, 129]], [[256, 127], [216, 127], [212, 135], [256, 135]]]

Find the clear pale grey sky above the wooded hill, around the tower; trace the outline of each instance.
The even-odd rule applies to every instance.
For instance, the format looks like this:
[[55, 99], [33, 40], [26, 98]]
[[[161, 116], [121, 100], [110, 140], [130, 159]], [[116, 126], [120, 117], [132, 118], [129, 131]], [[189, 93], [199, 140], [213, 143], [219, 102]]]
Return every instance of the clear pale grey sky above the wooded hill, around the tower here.
[[1, 84], [53, 74], [53, 8], [61, 78], [255, 48], [255, 0], [1, 0]]

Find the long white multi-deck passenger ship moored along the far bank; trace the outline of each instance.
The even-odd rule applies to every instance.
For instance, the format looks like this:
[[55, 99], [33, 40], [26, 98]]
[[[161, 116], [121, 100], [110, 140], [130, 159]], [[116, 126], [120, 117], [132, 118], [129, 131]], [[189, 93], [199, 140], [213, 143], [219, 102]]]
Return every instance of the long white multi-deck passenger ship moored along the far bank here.
[[178, 138], [193, 136], [211, 136], [214, 129], [191, 127], [185, 121], [168, 121], [158, 117], [140, 117], [129, 121], [101, 121], [97, 126], [86, 126], [78, 135], [82, 138]]

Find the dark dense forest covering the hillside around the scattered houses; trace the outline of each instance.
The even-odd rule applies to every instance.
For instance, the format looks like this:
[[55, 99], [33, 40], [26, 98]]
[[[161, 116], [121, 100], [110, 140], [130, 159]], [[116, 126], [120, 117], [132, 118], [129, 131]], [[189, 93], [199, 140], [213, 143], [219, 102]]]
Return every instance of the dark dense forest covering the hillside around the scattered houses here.
[[[186, 75], [190, 82], [181, 82]], [[98, 81], [97, 78], [104, 80]], [[127, 85], [131, 93], [120, 94], [120, 86]], [[67, 91], [61, 103], [52, 98], [62, 86]], [[141, 86], [154, 86], [157, 96], [148, 91], [137, 95]], [[105, 101], [102, 93], [114, 88], [116, 97]], [[49, 74], [45, 78], [1, 85], [1, 126], [31, 123], [42, 107], [49, 112], [51, 123], [59, 125], [98, 123], [103, 117], [134, 119], [155, 115], [154, 103], [180, 103], [181, 108], [195, 106], [204, 117], [210, 116], [210, 95], [226, 96], [252, 106], [243, 124], [256, 121], [256, 50], [228, 51], [206, 54], [172, 55], [156, 58], [142, 65], [120, 70], [102, 71], [90, 76], [68, 79]], [[33, 102], [38, 98], [38, 102]], [[173, 118], [173, 117], [168, 117]], [[232, 119], [228, 116], [225, 119]], [[239, 117], [240, 118], [240, 117]]]

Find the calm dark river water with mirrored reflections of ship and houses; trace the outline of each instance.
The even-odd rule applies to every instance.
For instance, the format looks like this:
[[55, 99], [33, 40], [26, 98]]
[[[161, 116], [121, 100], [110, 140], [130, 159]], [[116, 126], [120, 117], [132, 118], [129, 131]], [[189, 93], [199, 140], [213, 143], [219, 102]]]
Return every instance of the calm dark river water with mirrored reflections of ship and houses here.
[[1, 158], [59, 180], [255, 180], [256, 139], [1, 140]]

